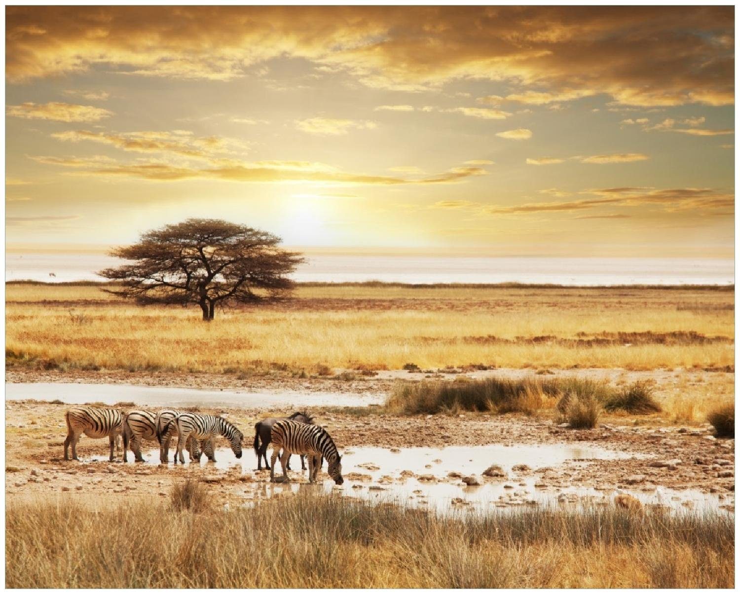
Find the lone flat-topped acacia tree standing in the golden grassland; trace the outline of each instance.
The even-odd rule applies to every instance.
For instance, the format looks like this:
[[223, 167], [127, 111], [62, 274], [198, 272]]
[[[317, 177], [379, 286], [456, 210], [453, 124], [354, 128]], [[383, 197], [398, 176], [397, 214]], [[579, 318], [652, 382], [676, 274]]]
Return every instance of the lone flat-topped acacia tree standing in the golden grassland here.
[[118, 281], [107, 289], [112, 294], [144, 305], [197, 303], [203, 320], [210, 321], [217, 305], [250, 303], [290, 291], [293, 283], [287, 274], [303, 257], [278, 243], [280, 237], [259, 229], [218, 219], [188, 219], [112, 250], [112, 256], [132, 263], [98, 274]]

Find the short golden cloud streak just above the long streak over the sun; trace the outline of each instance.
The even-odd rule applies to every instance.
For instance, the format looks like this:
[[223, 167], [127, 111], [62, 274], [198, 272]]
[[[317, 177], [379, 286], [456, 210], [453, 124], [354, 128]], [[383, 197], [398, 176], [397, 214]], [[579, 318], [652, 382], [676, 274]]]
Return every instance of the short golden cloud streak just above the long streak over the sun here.
[[69, 130], [56, 132], [52, 138], [66, 142], [92, 141], [109, 144], [117, 149], [132, 152], [163, 152], [188, 158], [206, 159], [246, 147], [232, 138], [219, 136], [196, 137], [187, 130], [172, 132], [91, 132]]

